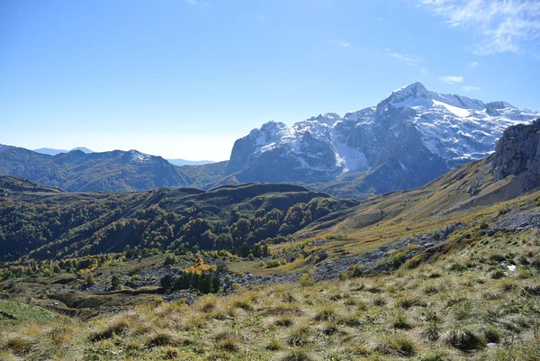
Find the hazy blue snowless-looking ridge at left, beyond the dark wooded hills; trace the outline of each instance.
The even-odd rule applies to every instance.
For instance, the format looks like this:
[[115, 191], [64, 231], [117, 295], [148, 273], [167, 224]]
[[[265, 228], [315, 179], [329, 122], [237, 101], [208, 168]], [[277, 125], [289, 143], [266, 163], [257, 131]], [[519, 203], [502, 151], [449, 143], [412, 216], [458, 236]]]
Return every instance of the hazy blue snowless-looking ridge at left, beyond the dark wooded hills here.
[[164, 158], [137, 150], [72, 150], [49, 156], [23, 148], [0, 149], [0, 174], [68, 192], [132, 192], [188, 185], [184, 175]]

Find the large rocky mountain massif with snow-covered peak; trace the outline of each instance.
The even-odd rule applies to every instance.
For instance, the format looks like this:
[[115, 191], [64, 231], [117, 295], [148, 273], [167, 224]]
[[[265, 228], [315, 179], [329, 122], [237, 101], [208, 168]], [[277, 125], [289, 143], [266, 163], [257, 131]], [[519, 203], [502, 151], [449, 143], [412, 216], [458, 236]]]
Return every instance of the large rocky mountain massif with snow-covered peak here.
[[235, 142], [227, 172], [240, 182], [307, 183], [359, 172], [365, 192], [406, 189], [489, 155], [506, 128], [538, 117], [414, 83], [343, 118], [324, 113], [291, 128], [267, 122]]

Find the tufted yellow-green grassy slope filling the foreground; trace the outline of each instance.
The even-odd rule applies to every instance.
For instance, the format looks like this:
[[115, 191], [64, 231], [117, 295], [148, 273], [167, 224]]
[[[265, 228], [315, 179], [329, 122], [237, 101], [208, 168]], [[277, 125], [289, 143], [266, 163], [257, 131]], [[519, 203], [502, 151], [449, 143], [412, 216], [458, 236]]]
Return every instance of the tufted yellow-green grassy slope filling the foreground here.
[[[537, 232], [458, 239], [437, 260], [390, 275], [259, 286], [204, 296], [191, 306], [147, 299], [88, 324], [67, 317], [3, 324], [0, 356], [536, 360]], [[500, 259], [516, 262], [516, 270]]]

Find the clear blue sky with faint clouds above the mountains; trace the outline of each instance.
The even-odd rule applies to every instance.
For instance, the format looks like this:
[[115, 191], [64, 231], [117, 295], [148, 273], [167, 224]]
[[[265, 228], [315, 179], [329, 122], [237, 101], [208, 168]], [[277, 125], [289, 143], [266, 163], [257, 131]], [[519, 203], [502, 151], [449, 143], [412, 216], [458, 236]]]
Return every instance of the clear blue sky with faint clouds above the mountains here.
[[421, 82], [540, 110], [537, 0], [0, 0], [0, 143], [225, 160]]

